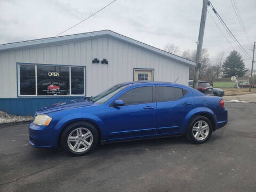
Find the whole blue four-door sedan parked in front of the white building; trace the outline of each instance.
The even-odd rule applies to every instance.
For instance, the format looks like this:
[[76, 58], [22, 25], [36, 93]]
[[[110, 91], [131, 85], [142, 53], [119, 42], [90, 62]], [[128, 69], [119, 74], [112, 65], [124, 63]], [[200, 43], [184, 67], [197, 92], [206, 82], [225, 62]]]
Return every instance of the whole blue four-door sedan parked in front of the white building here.
[[203, 143], [227, 118], [220, 97], [175, 83], [127, 82], [39, 109], [29, 125], [29, 143], [61, 146], [71, 155], [89, 153], [98, 143], [172, 135]]

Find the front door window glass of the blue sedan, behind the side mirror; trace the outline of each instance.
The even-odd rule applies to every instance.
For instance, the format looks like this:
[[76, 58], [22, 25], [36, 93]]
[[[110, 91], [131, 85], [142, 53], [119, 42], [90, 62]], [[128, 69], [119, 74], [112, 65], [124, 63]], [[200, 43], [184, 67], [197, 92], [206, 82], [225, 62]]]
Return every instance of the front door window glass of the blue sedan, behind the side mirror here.
[[121, 97], [124, 105], [135, 105], [153, 102], [153, 86], [137, 87], [125, 92]]

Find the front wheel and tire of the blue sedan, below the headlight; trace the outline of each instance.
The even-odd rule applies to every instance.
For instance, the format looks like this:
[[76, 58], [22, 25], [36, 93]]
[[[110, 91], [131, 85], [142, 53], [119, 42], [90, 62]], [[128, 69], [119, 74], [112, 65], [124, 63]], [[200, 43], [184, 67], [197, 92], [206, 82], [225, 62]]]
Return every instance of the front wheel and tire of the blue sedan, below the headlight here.
[[99, 133], [88, 122], [70, 124], [61, 136], [61, 147], [70, 155], [81, 156], [91, 152], [97, 145]]

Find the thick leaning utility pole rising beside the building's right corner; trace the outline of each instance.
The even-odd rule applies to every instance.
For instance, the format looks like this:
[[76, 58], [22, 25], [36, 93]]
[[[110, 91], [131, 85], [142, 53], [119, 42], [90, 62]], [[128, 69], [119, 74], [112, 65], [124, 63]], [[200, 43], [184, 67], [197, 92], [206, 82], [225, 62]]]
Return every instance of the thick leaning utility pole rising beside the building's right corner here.
[[206, 21], [207, 3], [208, 3], [208, 0], [203, 0], [203, 9], [201, 14], [201, 22], [200, 22], [200, 28], [199, 28], [197, 50], [196, 50], [196, 66], [195, 66], [195, 74], [194, 74], [194, 81], [193, 81], [194, 89], [197, 89], [199, 68], [201, 68], [200, 60], [201, 60], [201, 52], [202, 52], [203, 39], [204, 39], [204, 27], [205, 27], [205, 21]]

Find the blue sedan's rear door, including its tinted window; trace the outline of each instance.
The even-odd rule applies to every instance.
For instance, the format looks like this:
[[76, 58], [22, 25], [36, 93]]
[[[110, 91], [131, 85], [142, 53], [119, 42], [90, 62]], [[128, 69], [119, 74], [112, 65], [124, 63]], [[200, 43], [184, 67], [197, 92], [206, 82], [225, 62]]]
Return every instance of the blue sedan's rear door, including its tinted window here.
[[174, 86], [156, 86], [157, 133], [180, 133], [186, 115], [193, 109], [189, 90]]

